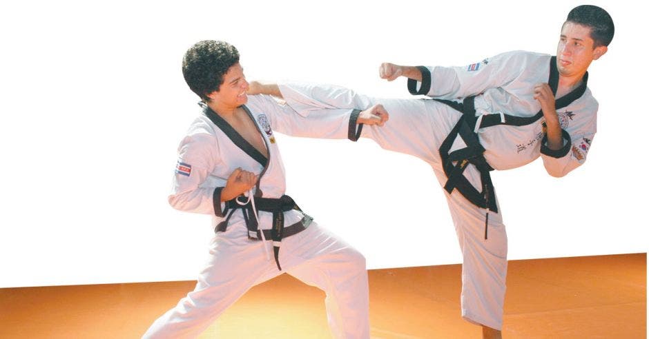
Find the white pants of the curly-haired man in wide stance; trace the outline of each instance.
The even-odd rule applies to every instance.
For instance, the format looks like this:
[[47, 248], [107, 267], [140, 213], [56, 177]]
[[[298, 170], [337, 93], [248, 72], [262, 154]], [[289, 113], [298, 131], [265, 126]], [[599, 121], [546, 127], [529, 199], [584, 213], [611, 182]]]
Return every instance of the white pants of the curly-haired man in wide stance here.
[[[264, 255], [264, 245], [271, 260]], [[324, 303], [335, 338], [369, 338], [362, 254], [314, 222], [282, 240], [279, 258], [283, 271], [275, 264], [271, 241], [249, 240], [245, 225], [230, 225], [213, 239], [194, 291], [155, 320], [143, 338], [195, 338], [251, 287], [284, 271], [327, 294]]]

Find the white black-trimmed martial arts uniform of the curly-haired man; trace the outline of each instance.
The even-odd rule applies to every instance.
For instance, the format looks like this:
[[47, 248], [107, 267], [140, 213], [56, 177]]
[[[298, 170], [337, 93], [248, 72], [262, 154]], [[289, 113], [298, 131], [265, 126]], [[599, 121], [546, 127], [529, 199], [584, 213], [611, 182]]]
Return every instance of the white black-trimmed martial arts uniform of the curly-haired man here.
[[[224, 220], [220, 189], [238, 167], [260, 176], [255, 196], [280, 198], [284, 194], [284, 166], [273, 132], [320, 138], [346, 138], [349, 114], [300, 116], [270, 96], [249, 96], [244, 107], [258, 126], [268, 150], [267, 166], [253, 159], [250, 145], [235, 145], [206, 115], [198, 117], [180, 147], [179, 162], [169, 202], [176, 209], [211, 214], [214, 225]], [[204, 108], [205, 110], [205, 108]], [[207, 111], [205, 111], [207, 112]], [[251, 150], [252, 149], [252, 150]], [[257, 154], [257, 156], [262, 156]], [[299, 202], [298, 202], [299, 203]], [[259, 228], [270, 229], [271, 212], [259, 213]], [[369, 338], [369, 294], [365, 258], [356, 249], [320, 228], [311, 218], [293, 209], [284, 212], [284, 225], [307, 226], [284, 238], [279, 252], [282, 270], [327, 294], [325, 305], [333, 336]], [[264, 246], [270, 256], [264, 253]], [[209, 258], [194, 291], [158, 318], [144, 338], [194, 338], [248, 289], [282, 271], [273, 260], [272, 242], [249, 239], [242, 209], [235, 209], [226, 232], [215, 235]], [[268, 316], [274, 314], [270, 306]], [[284, 320], [282, 320], [284, 319]], [[254, 322], [254, 319], [250, 319]]]

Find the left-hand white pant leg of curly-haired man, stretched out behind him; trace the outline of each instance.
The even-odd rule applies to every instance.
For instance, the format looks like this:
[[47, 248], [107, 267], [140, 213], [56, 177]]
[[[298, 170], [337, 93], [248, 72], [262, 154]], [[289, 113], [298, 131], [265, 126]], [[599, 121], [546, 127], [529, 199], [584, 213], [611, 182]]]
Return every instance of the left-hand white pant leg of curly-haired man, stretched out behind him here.
[[155, 320], [143, 338], [196, 338], [251, 287], [282, 273], [274, 260], [266, 260], [262, 242], [226, 234], [232, 235], [213, 240], [195, 289]]

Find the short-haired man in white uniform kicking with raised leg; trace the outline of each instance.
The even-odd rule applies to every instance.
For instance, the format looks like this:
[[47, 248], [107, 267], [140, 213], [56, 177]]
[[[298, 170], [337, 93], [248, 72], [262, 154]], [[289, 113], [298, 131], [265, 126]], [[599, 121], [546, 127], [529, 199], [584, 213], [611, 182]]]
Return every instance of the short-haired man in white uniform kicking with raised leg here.
[[[568, 14], [556, 56], [516, 51], [463, 67], [380, 65], [382, 79], [405, 76], [411, 94], [434, 100], [380, 99], [390, 123], [361, 136], [432, 166], [463, 255], [462, 316], [481, 325], [485, 338], [501, 337], [507, 274], [507, 235], [490, 171], [540, 156], [548, 174], [560, 177], [584, 163], [598, 107], [587, 70], [607, 52], [613, 34], [610, 15], [585, 5]], [[311, 114], [379, 101], [331, 85], [253, 82], [255, 92], [283, 96]], [[543, 208], [551, 210], [552, 202]]]

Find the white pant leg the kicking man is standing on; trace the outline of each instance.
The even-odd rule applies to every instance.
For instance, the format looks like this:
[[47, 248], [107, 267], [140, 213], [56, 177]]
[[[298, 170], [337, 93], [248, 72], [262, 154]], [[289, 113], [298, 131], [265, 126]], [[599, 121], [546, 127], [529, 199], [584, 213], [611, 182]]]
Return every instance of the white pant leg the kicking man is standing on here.
[[[443, 171], [434, 170], [440, 183], [446, 183]], [[473, 165], [467, 167], [465, 176], [474, 187], [481, 187], [480, 174]], [[498, 213], [489, 212], [485, 239], [486, 209], [473, 205], [457, 190], [445, 195], [463, 257], [462, 317], [500, 330], [507, 276], [507, 232], [501, 207], [498, 206]]]

